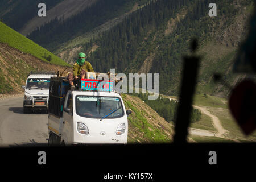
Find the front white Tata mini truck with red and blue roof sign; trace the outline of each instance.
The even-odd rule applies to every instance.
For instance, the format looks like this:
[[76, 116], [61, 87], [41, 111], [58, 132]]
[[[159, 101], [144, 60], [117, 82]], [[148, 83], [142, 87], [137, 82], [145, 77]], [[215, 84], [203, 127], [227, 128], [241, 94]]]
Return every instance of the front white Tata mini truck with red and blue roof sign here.
[[[83, 82], [92, 88], [101, 81]], [[51, 77], [48, 144], [127, 144], [131, 111], [125, 110], [120, 94], [105, 88], [71, 91], [67, 79]]]

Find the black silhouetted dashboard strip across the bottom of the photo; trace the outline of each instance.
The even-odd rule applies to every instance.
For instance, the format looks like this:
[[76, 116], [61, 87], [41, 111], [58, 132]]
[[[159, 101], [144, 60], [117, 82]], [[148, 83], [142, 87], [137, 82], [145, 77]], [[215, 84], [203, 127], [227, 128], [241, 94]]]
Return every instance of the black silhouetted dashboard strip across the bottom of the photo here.
[[[46, 152], [46, 164], [38, 163], [39, 151]], [[217, 164], [209, 164], [210, 151], [216, 152]], [[151, 181], [159, 181], [177, 176], [177, 172], [183, 173], [181, 177], [188, 177], [188, 172], [196, 175], [228, 172], [229, 169], [253, 170], [256, 163], [255, 155], [256, 143], [0, 148], [1, 166], [5, 169], [18, 169], [24, 172], [32, 169], [42, 173], [68, 171], [71, 176], [81, 172], [86, 177], [94, 179], [93, 181], [112, 181], [104, 179], [104, 175], [108, 173], [126, 176], [129, 173], [152, 173], [154, 180]], [[193, 179], [193, 176], [191, 177]]]

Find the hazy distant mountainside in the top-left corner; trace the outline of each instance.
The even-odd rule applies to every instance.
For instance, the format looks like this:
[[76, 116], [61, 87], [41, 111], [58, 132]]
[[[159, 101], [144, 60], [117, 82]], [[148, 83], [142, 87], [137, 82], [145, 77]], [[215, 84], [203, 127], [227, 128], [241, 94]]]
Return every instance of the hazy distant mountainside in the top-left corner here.
[[[67, 19], [98, 0], [1, 0], [0, 19], [23, 35], [30, 34], [55, 18]], [[39, 17], [39, 3], [46, 5], [46, 17]]]

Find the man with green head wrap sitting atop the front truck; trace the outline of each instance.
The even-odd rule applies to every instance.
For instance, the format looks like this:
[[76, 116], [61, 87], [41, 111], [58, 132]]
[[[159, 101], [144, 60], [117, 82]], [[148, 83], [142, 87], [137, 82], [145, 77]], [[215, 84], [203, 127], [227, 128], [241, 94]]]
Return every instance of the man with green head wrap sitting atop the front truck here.
[[92, 65], [85, 61], [85, 53], [80, 52], [79, 53], [79, 59], [76, 61], [76, 63], [73, 65], [73, 73], [68, 74], [68, 80], [69, 84], [71, 84], [71, 90], [75, 89], [73, 80], [77, 78], [84, 79], [86, 72], [94, 72]]

